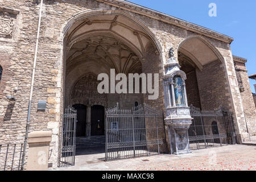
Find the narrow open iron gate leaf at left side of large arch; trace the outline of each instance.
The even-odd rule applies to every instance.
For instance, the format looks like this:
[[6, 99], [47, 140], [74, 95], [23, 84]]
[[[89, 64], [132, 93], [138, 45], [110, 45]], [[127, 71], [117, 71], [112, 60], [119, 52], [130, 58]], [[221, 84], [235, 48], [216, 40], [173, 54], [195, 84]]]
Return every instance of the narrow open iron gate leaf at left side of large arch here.
[[62, 126], [62, 146], [59, 158], [59, 167], [75, 165], [76, 155], [76, 116], [73, 107], [65, 109]]

